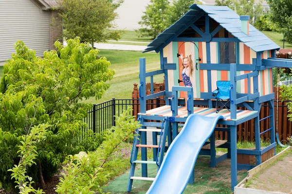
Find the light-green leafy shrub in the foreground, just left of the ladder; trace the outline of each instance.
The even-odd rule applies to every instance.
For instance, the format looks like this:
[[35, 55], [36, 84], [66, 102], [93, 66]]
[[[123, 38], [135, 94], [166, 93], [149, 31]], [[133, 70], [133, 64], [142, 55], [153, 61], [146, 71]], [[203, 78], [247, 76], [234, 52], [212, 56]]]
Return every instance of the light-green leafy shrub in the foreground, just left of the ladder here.
[[135, 129], [140, 127], [139, 122], [131, 116], [131, 111], [132, 108], [128, 107], [116, 118], [116, 127], [103, 133], [104, 141], [96, 151], [68, 157], [57, 193], [103, 193], [102, 186], [123, 165], [123, 155], [119, 152], [121, 145], [132, 138]]

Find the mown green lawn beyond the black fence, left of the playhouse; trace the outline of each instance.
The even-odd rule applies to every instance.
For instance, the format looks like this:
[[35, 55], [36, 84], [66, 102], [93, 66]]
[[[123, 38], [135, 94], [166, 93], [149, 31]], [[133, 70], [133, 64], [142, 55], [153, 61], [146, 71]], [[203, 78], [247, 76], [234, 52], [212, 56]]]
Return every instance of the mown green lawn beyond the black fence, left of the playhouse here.
[[[101, 99], [95, 100], [95, 97], [91, 97], [84, 102], [96, 104], [113, 97], [117, 99], [131, 98], [133, 84], [139, 83], [139, 58], [141, 57], [146, 58], [146, 71], [160, 69], [159, 54], [156, 53], [142, 54], [140, 51], [100, 50], [99, 55], [105, 56], [110, 61], [112, 64], [110, 68], [115, 70], [115, 75], [108, 82], [110, 88]], [[163, 75], [154, 76], [155, 82], [163, 82], [163, 79]]]

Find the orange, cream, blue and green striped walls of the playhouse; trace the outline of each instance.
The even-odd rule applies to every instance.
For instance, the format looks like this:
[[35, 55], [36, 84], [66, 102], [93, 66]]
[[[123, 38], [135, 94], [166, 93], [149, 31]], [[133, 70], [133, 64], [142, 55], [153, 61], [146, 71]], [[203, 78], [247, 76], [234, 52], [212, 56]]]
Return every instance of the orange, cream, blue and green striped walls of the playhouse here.
[[[196, 45], [199, 49], [196, 47]], [[212, 64], [220, 63], [220, 43], [210, 42], [210, 59]], [[188, 55], [190, 52], [194, 53], [193, 61], [193, 74], [191, 81], [194, 89], [194, 98], [200, 98], [201, 92], [211, 92], [208, 91], [208, 77], [207, 70], [200, 70], [199, 57], [201, 59], [200, 63], [207, 63], [207, 50], [205, 42], [171, 42], [168, 46], [164, 48], [164, 57], [167, 57], [168, 63], [177, 64], [176, 70], [168, 70], [168, 85], [169, 91], [171, 91], [172, 86], [183, 86], [183, 82], [180, 84], [178, 80], [182, 80], [182, 61], [177, 57], [177, 54], [183, 53], [183, 56]], [[263, 59], [271, 57], [271, 51], [264, 51], [262, 54]], [[239, 43], [239, 64], [253, 64], [253, 58], [256, 58], [256, 52], [242, 42]], [[196, 70], [196, 63], [198, 63]], [[247, 74], [252, 71], [237, 71], [237, 75]], [[230, 71], [226, 70], [211, 70], [211, 82], [212, 82], [212, 91], [216, 89], [216, 81], [228, 81], [230, 80]], [[259, 71], [258, 76], [259, 82], [259, 93], [260, 96], [273, 93], [273, 83], [272, 83], [272, 69], [266, 69]], [[248, 81], [247, 79], [237, 81], [237, 93], [248, 93]], [[250, 80], [250, 93], [254, 93], [254, 82], [253, 78]], [[179, 94], [179, 97], [184, 97], [183, 92]]]

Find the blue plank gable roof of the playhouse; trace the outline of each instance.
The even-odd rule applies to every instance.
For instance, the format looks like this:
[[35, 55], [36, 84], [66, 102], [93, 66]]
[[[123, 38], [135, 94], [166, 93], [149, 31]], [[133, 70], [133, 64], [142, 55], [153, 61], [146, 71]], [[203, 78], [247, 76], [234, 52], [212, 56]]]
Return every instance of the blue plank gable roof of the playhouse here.
[[[262, 32], [259, 32], [251, 24], [249, 24], [249, 35], [242, 32], [239, 15], [227, 6], [206, 6], [193, 4], [190, 6], [190, 9], [191, 10], [182, 16], [178, 21], [159, 34], [155, 40], [147, 45], [147, 48], [143, 52], [148, 52], [151, 50], [159, 52], [181, 33], [190, 28], [195, 21], [196, 25], [200, 25], [200, 21], [198, 21], [198, 19], [200, 19], [200, 17], [205, 13], [218, 22], [220, 26], [230, 32], [234, 37], [243, 42], [247, 47], [256, 52], [280, 49], [277, 44], [275, 44]], [[201, 25], [204, 25], [204, 21]]]

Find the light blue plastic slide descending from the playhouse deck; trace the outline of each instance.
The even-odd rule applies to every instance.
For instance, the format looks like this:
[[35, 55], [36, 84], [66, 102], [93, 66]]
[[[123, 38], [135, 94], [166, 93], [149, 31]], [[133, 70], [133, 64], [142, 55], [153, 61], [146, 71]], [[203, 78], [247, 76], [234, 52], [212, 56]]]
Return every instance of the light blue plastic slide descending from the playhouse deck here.
[[205, 141], [223, 116], [191, 114], [169, 146], [155, 180], [146, 194], [182, 194]]

